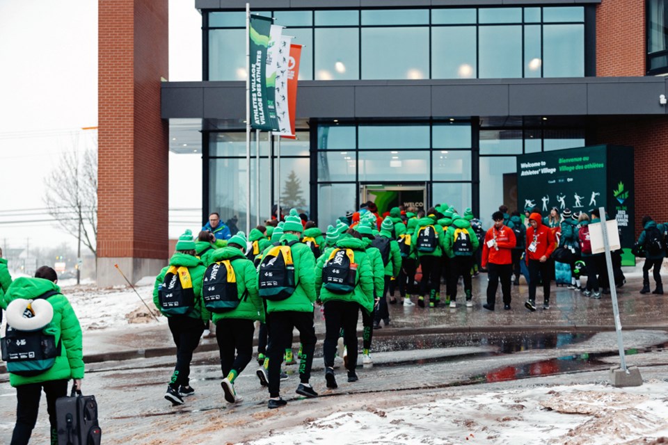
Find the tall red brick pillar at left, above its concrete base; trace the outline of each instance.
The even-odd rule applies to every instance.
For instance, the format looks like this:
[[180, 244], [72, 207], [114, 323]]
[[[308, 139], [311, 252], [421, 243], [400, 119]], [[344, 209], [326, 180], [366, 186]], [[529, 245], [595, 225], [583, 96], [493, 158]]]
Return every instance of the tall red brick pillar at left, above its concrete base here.
[[98, 0], [98, 254], [168, 257], [168, 1]]

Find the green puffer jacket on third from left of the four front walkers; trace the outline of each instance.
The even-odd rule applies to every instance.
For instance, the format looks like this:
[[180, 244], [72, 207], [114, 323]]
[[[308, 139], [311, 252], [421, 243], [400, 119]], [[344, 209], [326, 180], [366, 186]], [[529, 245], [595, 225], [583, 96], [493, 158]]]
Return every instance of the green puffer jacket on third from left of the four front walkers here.
[[[313, 303], [315, 302], [315, 257], [308, 245], [299, 243], [299, 236], [283, 234], [280, 237], [282, 245], [287, 245], [292, 241], [297, 241], [291, 248], [294, 278], [297, 282], [296, 289], [285, 300], [267, 300], [267, 314], [280, 311], [313, 312]], [[267, 256], [267, 252], [271, 248], [273, 246], [262, 253], [263, 257]]]

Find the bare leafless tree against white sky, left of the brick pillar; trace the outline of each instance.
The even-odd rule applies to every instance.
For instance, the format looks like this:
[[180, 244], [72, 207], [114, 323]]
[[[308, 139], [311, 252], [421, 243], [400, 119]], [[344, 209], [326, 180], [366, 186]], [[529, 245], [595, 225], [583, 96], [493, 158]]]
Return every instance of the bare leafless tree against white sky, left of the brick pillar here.
[[65, 152], [45, 186], [49, 214], [97, 258], [97, 143]]

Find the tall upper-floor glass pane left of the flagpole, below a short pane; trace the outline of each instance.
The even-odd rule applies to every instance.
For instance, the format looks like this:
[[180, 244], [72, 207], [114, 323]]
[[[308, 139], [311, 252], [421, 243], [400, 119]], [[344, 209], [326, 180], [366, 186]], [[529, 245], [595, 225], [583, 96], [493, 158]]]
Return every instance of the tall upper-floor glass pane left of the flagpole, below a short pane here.
[[209, 80], [242, 81], [246, 79], [245, 29], [209, 31]]

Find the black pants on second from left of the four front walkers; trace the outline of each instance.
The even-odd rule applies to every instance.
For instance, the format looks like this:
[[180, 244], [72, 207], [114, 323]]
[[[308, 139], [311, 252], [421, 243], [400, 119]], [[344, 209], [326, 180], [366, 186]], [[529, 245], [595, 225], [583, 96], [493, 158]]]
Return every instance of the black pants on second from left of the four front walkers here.
[[232, 369], [239, 375], [250, 363], [253, 358], [253, 332], [253, 320], [223, 318], [216, 323], [216, 340], [221, 352], [223, 378], [227, 377]]

